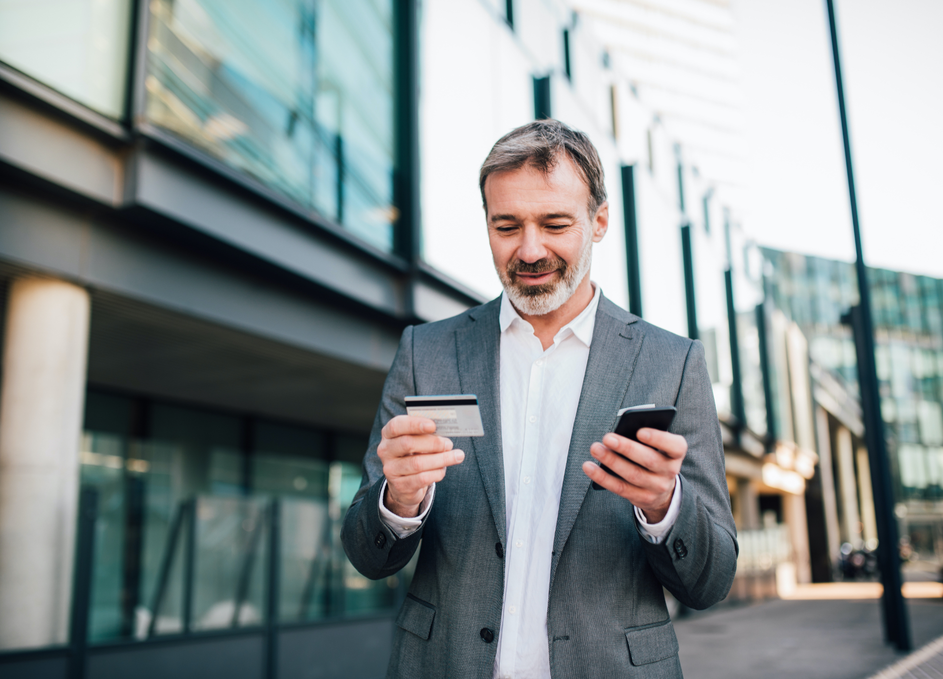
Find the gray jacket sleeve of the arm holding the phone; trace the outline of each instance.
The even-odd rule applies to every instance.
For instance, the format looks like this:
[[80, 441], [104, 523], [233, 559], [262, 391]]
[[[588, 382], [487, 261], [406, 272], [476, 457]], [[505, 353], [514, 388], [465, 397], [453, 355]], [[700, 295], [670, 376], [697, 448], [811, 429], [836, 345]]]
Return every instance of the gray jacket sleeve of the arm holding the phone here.
[[661, 584], [691, 608], [727, 596], [736, 573], [736, 526], [730, 510], [723, 441], [703, 344], [691, 342], [670, 431], [687, 439], [681, 511], [660, 544], [641, 543]]

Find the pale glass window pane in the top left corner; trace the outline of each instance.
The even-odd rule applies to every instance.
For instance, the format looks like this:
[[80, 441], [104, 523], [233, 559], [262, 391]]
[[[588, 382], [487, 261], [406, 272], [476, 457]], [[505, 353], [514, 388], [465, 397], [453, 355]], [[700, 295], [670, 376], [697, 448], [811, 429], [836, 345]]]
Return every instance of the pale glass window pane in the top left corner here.
[[0, 0], [0, 59], [122, 118], [130, 8], [131, 0]]

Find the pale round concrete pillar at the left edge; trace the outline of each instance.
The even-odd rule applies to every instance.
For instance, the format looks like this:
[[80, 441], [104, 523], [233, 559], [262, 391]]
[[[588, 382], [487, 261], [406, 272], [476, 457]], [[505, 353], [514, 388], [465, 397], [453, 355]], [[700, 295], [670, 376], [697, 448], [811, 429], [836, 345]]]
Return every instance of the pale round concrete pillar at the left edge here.
[[89, 293], [12, 282], [0, 386], [0, 648], [68, 635]]

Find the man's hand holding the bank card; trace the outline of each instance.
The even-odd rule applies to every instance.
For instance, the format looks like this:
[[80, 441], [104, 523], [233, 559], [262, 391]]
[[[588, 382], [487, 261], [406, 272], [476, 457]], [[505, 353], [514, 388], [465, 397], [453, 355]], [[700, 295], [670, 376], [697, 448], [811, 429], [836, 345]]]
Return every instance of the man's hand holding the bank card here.
[[419, 514], [429, 487], [445, 477], [445, 468], [465, 459], [452, 449], [452, 440], [436, 436], [436, 422], [428, 418], [397, 415], [380, 433], [376, 454], [383, 462], [387, 495], [383, 504], [404, 519]]

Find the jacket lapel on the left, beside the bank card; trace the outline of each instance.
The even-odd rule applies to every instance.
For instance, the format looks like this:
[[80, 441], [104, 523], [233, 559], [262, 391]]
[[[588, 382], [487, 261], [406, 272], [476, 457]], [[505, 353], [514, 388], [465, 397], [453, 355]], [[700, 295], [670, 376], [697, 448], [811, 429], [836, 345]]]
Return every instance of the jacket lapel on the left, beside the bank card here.
[[458, 356], [458, 383], [462, 393], [478, 396], [481, 422], [485, 436], [472, 438], [472, 448], [478, 461], [488, 495], [488, 504], [494, 516], [494, 526], [502, 544], [506, 541], [505, 515], [505, 455], [501, 441], [500, 356], [501, 325], [499, 313], [501, 298], [472, 312], [472, 322], [455, 331], [455, 350]]

